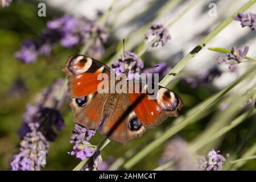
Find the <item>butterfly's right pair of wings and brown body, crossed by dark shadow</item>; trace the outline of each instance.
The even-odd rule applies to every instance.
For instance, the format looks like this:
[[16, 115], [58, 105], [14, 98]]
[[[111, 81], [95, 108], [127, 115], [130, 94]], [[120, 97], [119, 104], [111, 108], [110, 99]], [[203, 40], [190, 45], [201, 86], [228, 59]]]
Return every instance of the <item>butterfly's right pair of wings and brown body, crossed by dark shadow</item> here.
[[[140, 86], [140, 85], [135, 85]], [[126, 144], [141, 137], [146, 129], [152, 129], [172, 116], [183, 106], [180, 97], [167, 88], [159, 86], [156, 98], [147, 92], [147, 85], [139, 93], [112, 94], [105, 105], [105, 119], [101, 132], [109, 139]]]

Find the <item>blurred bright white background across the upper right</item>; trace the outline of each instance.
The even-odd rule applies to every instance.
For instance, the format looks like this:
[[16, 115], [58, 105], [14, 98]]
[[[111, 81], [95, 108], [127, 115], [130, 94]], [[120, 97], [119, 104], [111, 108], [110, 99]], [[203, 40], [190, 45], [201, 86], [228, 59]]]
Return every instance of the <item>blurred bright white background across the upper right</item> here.
[[[114, 6], [115, 11], [121, 11], [118, 17], [114, 16], [110, 20], [114, 19], [113, 34], [118, 39], [122, 40], [126, 38], [131, 32], [137, 30], [144, 25], [144, 22], [148, 19], [152, 19], [154, 13], [164, 4], [170, 3], [170, 1], [157, 1], [157, 0], [122, 0], [117, 1]], [[55, 0], [55, 1], [40, 1], [45, 2], [47, 6], [52, 6], [55, 9], [60, 9], [68, 14], [76, 16], [86, 15], [90, 18], [96, 16], [97, 10], [108, 10], [113, 0], [105, 1], [93, 1], [93, 0]], [[183, 11], [189, 3], [192, 1], [176, 1], [177, 6], [175, 9], [171, 9], [162, 17], [158, 18], [154, 23], [166, 23], [170, 22], [181, 11]], [[151, 48], [149, 51], [158, 60], [166, 60], [172, 66], [177, 61], [181, 60], [184, 55], [189, 53], [199, 42], [204, 38], [214, 27], [218, 25], [222, 20], [233, 14], [238, 8], [245, 4], [247, 0], [219, 0], [200, 1], [192, 10], [188, 11], [183, 18], [179, 19], [174, 26], [170, 28], [171, 41], [164, 47]], [[216, 3], [217, 11], [216, 16], [209, 16], [210, 3]], [[123, 7], [125, 7], [124, 10]], [[256, 13], [256, 6], [251, 7], [247, 12]], [[131, 19], [135, 21], [131, 22]], [[198, 53], [185, 68], [186, 71], [191, 73], [198, 73], [202, 70], [208, 69], [216, 64], [216, 57], [221, 55], [220, 53], [209, 51], [208, 47], [222, 47], [231, 49], [232, 46], [243, 48], [246, 45], [250, 46], [248, 56], [256, 56], [256, 32], [251, 31], [249, 28], [241, 28], [240, 22], [233, 21], [226, 27], [220, 34], [216, 36], [210, 43], [204, 47], [200, 53]], [[143, 39], [138, 37], [137, 39]], [[224, 56], [224, 55], [222, 55]], [[146, 61], [146, 60], [144, 60]], [[250, 64], [240, 64], [238, 72], [231, 73], [228, 71], [228, 65], [221, 65], [221, 69], [224, 70], [224, 74], [214, 80], [214, 85], [222, 88], [229, 82], [233, 81], [237, 75], [240, 75], [245, 67]], [[255, 83], [255, 80], [251, 80], [251, 84]], [[250, 85], [248, 83], [248, 85]], [[246, 87], [243, 86], [243, 89]]]

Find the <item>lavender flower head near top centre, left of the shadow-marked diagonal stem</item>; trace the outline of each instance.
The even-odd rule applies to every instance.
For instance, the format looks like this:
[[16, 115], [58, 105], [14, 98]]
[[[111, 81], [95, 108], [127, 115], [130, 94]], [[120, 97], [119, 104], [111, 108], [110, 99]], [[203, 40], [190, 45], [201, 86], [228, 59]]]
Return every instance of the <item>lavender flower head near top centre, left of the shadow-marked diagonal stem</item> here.
[[152, 24], [150, 26], [150, 32], [145, 34], [145, 39], [148, 40], [150, 35], [157, 36], [158, 40], [152, 44], [152, 47], [158, 47], [159, 44], [164, 46], [168, 40], [171, 40], [171, 36], [167, 30], [167, 28], [163, 27], [163, 24]]

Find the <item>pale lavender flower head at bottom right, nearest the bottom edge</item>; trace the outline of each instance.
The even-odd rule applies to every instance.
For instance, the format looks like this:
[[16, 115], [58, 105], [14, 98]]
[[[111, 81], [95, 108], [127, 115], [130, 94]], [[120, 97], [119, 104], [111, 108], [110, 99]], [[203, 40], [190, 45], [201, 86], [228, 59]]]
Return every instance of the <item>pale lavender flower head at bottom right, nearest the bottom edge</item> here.
[[[198, 168], [206, 171], [218, 171], [221, 170], [222, 164], [225, 162], [224, 156], [219, 154], [220, 151], [214, 151], [213, 149], [207, 156], [198, 156]], [[226, 155], [228, 157], [228, 155]]]

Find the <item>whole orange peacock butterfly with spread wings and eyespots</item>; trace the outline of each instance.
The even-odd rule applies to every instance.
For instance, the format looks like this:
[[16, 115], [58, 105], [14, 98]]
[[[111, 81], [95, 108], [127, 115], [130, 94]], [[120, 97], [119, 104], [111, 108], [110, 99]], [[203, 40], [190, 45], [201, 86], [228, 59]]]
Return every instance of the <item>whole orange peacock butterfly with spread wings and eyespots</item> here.
[[[70, 56], [63, 71], [68, 76], [68, 93], [74, 121], [88, 129], [98, 129], [109, 139], [126, 144], [129, 140], [141, 137], [146, 129], [158, 126], [169, 116], [177, 117], [177, 110], [183, 102], [171, 90], [159, 86], [156, 99], [150, 100], [147, 85], [141, 86], [138, 93], [127, 92], [99, 93], [98, 75], [106, 73], [110, 77], [113, 70], [107, 65], [83, 55]], [[129, 70], [125, 71], [127, 76]], [[114, 77], [114, 84], [121, 82]], [[109, 90], [113, 85], [109, 82]], [[144, 92], [143, 92], [144, 91]]]

